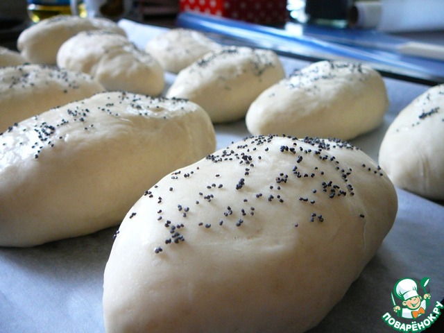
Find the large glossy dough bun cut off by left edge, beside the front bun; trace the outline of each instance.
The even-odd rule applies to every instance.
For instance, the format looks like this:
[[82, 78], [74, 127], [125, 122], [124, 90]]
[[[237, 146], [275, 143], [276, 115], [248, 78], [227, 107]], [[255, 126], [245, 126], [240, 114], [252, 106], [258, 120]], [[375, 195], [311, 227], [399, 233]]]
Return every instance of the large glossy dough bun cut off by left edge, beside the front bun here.
[[215, 148], [198, 105], [105, 92], [0, 135], [0, 246], [117, 225], [165, 174]]

